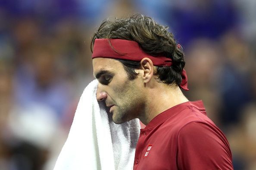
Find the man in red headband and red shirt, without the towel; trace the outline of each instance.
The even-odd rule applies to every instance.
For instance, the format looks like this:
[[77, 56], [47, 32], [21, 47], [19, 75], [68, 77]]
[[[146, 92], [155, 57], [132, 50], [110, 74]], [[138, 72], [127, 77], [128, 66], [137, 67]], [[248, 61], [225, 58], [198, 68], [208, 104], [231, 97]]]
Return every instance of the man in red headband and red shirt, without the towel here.
[[206, 116], [203, 102], [190, 102], [184, 54], [167, 27], [152, 18], [104, 21], [94, 33], [97, 100], [113, 121], [139, 118], [134, 170], [231, 170], [222, 131]]

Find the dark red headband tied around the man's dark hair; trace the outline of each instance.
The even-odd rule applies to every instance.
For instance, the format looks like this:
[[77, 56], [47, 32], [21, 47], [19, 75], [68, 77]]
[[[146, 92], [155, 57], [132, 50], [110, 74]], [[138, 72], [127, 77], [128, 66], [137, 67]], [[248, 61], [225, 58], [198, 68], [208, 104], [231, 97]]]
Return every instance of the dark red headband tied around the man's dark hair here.
[[[110, 43], [109, 43], [110, 42]], [[141, 61], [147, 57], [152, 60], [154, 66], [172, 66], [172, 59], [164, 56], [153, 57], [148, 55], [135, 41], [125, 39], [95, 39], [92, 58], [114, 58], [131, 61]], [[181, 73], [182, 81], [180, 87], [187, 88], [187, 73], [183, 69]]]

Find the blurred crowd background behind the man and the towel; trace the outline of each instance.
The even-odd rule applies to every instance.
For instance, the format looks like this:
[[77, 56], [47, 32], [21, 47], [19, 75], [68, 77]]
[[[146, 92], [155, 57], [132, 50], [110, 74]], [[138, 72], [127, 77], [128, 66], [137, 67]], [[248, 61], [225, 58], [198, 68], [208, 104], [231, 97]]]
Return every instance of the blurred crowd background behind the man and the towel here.
[[189, 100], [226, 134], [235, 170], [256, 170], [255, 0], [0, 0], [0, 170], [52, 170], [93, 80], [90, 36], [142, 13], [185, 52]]

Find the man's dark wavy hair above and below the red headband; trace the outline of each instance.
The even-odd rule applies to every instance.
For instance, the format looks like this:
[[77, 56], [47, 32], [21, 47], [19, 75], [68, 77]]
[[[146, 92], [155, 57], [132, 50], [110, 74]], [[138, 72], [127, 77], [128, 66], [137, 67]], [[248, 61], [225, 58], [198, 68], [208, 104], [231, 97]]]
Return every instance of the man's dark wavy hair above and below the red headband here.
[[[165, 56], [172, 59], [172, 66], [156, 67], [157, 80], [166, 84], [181, 84], [181, 72], [185, 66], [184, 53], [178, 48], [173, 34], [168, 27], [157, 24], [152, 18], [135, 14], [128, 18], [106, 19], [94, 33], [91, 40], [91, 51], [95, 39], [126, 39], [136, 41], [140, 48], [152, 56]], [[129, 79], [135, 79], [140, 62], [116, 59], [122, 62]]]

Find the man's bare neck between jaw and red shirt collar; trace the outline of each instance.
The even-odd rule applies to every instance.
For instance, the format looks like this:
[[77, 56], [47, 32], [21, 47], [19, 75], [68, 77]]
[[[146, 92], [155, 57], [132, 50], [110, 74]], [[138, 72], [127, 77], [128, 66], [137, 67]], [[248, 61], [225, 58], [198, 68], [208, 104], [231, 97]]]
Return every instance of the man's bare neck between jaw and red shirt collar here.
[[147, 90], [150, 95], [146, 99], [145, 113], [139, 118], [145, 125], [163, 111], [188, 101], [181, 89], [176, 85], [160, 83], [157, 88], [149, 88]]

